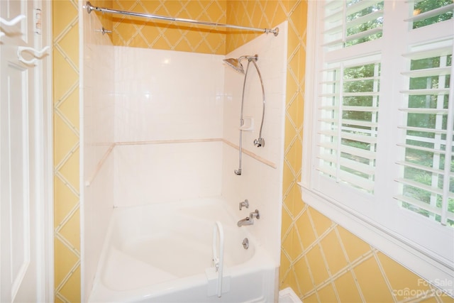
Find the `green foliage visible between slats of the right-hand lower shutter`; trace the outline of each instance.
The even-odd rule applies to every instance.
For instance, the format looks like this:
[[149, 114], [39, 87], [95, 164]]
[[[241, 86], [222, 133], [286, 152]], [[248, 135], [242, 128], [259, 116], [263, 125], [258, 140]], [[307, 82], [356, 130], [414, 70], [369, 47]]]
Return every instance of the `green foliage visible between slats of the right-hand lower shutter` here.
[[[442, 64], [442, 60], [445, 62]], [[421, 60], [411, 60], [411, 70], [425, 70], [437, 67], [449, 67], [452, 65], [452, 55], [446, 57], [430, 57]], [[409, 89], [443, 89], [449, 88], [450, 75], [436, 75], [429, 77], [416, 77], [409, 80]], [[442, 83], [442, 85], [441, 85]], [[444, 84], [443, 84], [444, 83]], [[448, 94], [416, 94], [409, 96], [409, 108], [414, 109], [448, 109]], [[421, 148], [431, 148], [435, 150], [445, 150], [449, 148], [445, 145], [446, 135], [439, 134], [432, 129], [443, 129], [447, 128], [448, 116], [446, 114], [441, 115], [437, 113], [433, 114], [421, 114], [421, 113], [409, 113], [407, 115], [407, 126], [416, 128], [427, 128], [427, 131], [407, 131], [406, 144], [414, 145], [415, 148], [406, 148], [405, 160], [407, 162], [421, 165], [423, 167], [433, 167], [438, 170], [443, 170], [445, 166], [445, 155], [433, 153], [427, 150], [421, 150]], [[437, 165], [438, 163], [438, 165]], [[438, 167], [437, 167], [438, 166]], [[454, 172], [454, 159], [450, 159], [450, 171]], [[430, 172], [429, 170], [418, 169], [415, 167], [406, 167], [404, 171], [404, 178], [407, 180], [413, 180], [419, 184], [426, 185], [428, 187], [436, 187], [443, 189], [443, 174], [437, 172]], [[434, 184], [435, 182], [435, 184]], [[450, 180], [449, 183], [450, 192], [454, 192], [454, 180]], [[435, 194], [420, 187], [413, 187], [411, 185], [404, 186], [404, 195], [407, 197], [413, 197], [418, 199], [420, 202], [426, 204], [432, 204], [438, 209], [441, 209], [442, 196]], [[403, 203], [402, 206], [406, 209], [411, 209], [423, 216], [431, 216], [436, 221], [441, 221], [441, 216], [433, 214], [430, 211], [421, 209], [417, 206]], [[448, 212], [454, 213], [454, 199], [448, 199]], [[448, 219], [448, 225], [454, 226], [454, 221]]]

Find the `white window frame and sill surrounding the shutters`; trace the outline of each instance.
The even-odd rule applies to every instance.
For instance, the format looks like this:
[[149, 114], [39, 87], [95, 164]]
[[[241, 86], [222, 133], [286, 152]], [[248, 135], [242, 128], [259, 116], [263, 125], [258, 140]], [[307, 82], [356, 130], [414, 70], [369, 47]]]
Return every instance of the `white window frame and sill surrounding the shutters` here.
[[[406, 29], [409, 25], [408, 23], [402, 22], [404, 16], [398, 16], [397, 11], [402, 11], [404, 9], [409, 9], [410, 1], [390, 1], [393, 2], [393, 6], [399, 6], [398, 9], [388, 10], [385, 7], [385, 23], [383, 27], [383, 35], [387, 35], [389, 31], [395, 30], [397, 27], [403, 27]], [[320, 16], [320, 6], [323, 6], [323, 1], [308, 1], [308, 14], [307, 14], [307, 48], [306, 48], [306, 92], [305, 92], [305, 102], [304, 102], [304, 128], [303, 128], [303, 159], [302, 159], [302, 172], [301, 172], [301, 182], [299, 185], [301, 187], [301, 197], [303, 201], [309, 204], [311, 207], [314, 207], [317, 211], [320, 211], [322, 214], [328, 216], [328, 218], [336, 221], [341, 226], [348, 229], [350, 232], [354, 233], [356, 236], [362, 238], [362, 240], [370, 243], [375, 248], [381, 250], [383, 253], [389, 255], [397, 262], [404, 265], [409, 270], [415, 272], [417, 275], [420, 275], [424, 279], [431, 282], [434, 286], [441, 288], [446, 293], [454, 296], [453, 283], [454, 280], [454, 253], [450, 256], [451, 253], [444, 255], [438, 255], [433, 253], [431, 247], [434, 243], [443, 243], [443, 246], [446, 246], [448, 252], [454, 251], [454, 228], [446, 228], [440, 224], [432, 224], [428, 220], [419, 215], [413, 214], [411, 211], [406, 211], [400, 208], [395, 199], [389, 199], [389, 195], [382, 194], [380, 191], [375, 192], [375, 196], [371, 199], [370, 195], [366, 194], [355, 194], [353, 191], [350, 192], [349, 189], [342, 189], [341, 184], [335, 184], [333, 182], [333, 187], [338, 187], [338, 189], [333, 189], [333, 192], [336, 194], [335, 197], [330, 197], [326, 194], [326, 189], [321, 191], [314, 187], [315, 180], [314, 178], [318, 177], [318, 172], [314, 169], [315, 167], [315, 148], [316, 148], [316, 111], [317, 104], [316, 100], [317, 92], [316, 87], [321, 82], [319, 78], [321, 69], [321, 64], [323, 61], [323, 54], [318, 49], [321, 45], [321, 35], [317, 35], [316, 28], [319, 28], [319, 21], [317, 20]], [[389, 7], [388, 7], [389, 8]], [[394, 24], [393, 24], [394, 23]], [[441, 33], [436, 33], [434, 35], [433, 31], [431, 32], [431, 26], [426, 26], [423, 28], [418, 28], [416, 30], [410, 31], [406, 41], [401, 41], [401, 45], [392, 45], [392, 48], [384, 48], [382, 51], [382, 75], [391, 65], [401, 65], [402, 61], [393, 62], [395, 53], [399, 54], [405, 53], [405, 47], [414, 43], [418, 35], [424, 35], [426, 37], [433, 37], [434, 39], [443, 38], [443, 36], [453, 35], [453, 22], [444, 21], [444, 24], [438, 24], [437, 26], [444, 26]], [[375, 43], [371, 41], [370, 43]], [[399, 43], [397, 43], [399, 44]], [[404, 47], [404, 48], [402, 48]], [[350, 47], [351, 48], [351, 47]], [[358, 48], [356, 48], [358, 49]], [[350, 53], [354, 53], [355, 48], [351, 48]], [[454, 77], [454, 75], [451, 75]], [[383, 119], [385, 113], [392, 113], [391, 117], [387, 121], [387, 126], [384, 128], [379, 128], [379, 137], [378, 144], [380, 141], [392, 141], [394, 148], [389, 148], [386, 150], [387, 154], [384, 154], [384, 158], [394, 158], [399, 150], [396, 148], [399, 138], [394, 136], [397, 129], [397, 115], [399, 114], [396, 111], [395, 105], [392, 102], [385, 102], [385, 99], [395, 100], [396, 98], [402, 98], [402, 88], [405, 87], [405, 82], [408, 82], [408, 79], [404, 77], [396, 76], [393, 77], [382, 77], [380, 81], [380, 87], [382, 87], [382, 92], [380, 92], [380, 110], [379, 117]], [[452, 81], [451, 81], [452, 82]], [[387, 89], [383, 89], [386, 87]], [[394, 107], [393, 107], [394, 106]], [[393, 133], [394, 131], [394, 133]], [[382, 157], [383, 158], [383, 157]], [[377, 158], [377, 178], [376, 184], [377, 188], [386, 188], [390, 192], [397, 192], [398, 184], [394, 181], [394, 175], [390, 175], [389, 172], [396, 170], [394, 168], [394, 163], [392, 161], [380, 162], [380, 159]], [[383, 176], [386, 177], [383, 177]], [[343, 192], [341, 192], [343, 190]], [[331, 189], [330, 189], [331, 191]], [[344, 204], [337, 200], [338, 194], [352, 195], [350, 196], [354, 200], [351, 204]], [[391, 214], [392, 213], [392, 214]], [[388, 216], [389, 215], [389, 216]], [[384, 218], [387, 216], [387, 218]], [[392, 223], [394, 221], [394, 224]], [[395, 224], [395, 222], [399, 224]], [[389, 224], [388, 224], [389, 222]], [[401, 222], [406, 222], [401, 224]], [[414, 238], [407, 238], [402, 236], [401, 231], [404, 230], [405, 224], [411, 224], [413, 233], [418, 235]], [[400, 228], [400, 230], [399, 230]], [[419, 237], [419, 235], [431, 234], [433, 236]], [[451, 238], [450, 238], [451, 236]], [[429, 239], [428, 239], [429, 238]], [[446, 239], [451, 239], [452, 245], [450, 243], [441, 242], [446, 241]], [[421, 241], [420, 241], [421, 240]], [[452, 246], [452, 247], [451, 247]]]

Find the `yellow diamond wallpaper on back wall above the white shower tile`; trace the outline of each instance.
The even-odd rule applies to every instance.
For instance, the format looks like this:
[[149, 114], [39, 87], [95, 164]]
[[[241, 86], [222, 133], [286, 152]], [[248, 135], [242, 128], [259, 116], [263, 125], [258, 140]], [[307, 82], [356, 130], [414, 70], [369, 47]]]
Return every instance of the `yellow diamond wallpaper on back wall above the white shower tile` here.
[[[226, 23], [226, 1], [123, 1], [114, 0], [113, 9], [152, 13], [211, 23]], [[200, 27], [192, 23], [145, 20], [133, 16], [114, 16], [112, 42], [135, 48], [179, 50], [223, 55], [226, 52], [224, 28]]]

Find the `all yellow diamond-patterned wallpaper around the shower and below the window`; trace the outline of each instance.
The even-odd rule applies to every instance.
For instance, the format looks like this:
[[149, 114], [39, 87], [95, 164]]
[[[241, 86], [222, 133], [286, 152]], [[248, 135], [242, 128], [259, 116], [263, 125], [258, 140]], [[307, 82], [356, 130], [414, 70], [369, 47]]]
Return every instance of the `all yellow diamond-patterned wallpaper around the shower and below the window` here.
[[[79, 33], [76, 0], [52, 1], [55, 302], [80, 302]], [[92, 1], [179, 18], [272, 28], [289, 21], [279, 287], [307, 302], [454, 302], [301, 201], [306, 1]], [[225, 54], [260, 33], [101, 16], [114, 45]], [[409, 292], [414, 290], [414, 292]]]

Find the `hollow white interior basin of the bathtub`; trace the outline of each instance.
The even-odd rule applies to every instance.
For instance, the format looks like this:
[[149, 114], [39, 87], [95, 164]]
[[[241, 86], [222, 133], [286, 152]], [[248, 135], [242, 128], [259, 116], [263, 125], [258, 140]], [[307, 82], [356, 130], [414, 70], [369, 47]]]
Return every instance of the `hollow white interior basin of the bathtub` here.
[[106, 246], [175, 278], [197, 275], [212, 266], [216, 221], [225, 234], [224, 264], [233, 267], [252, 258], [254, 241], [243, 248], [243, 239], [250, 235], [233, 225], [232, 212], [216, 199], [117, 208]]

